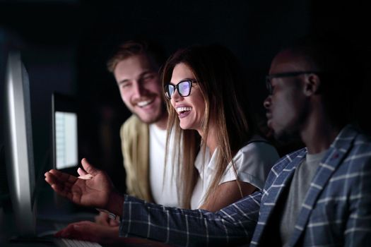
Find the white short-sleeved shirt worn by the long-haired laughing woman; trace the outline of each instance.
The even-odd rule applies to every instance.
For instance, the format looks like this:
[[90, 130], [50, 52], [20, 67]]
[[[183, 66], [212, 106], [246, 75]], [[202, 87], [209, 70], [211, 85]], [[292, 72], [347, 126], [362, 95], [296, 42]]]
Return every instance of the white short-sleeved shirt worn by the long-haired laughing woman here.
[[[201, 148], [201, 151], [197, 155], [196, 161], [194, 162], [194, 166], [199, 171], [199, 179], [192, 194], [192, 209], [199, 208], [204, 204], [204, 197], [208, 191], [208, 187], [213, 181], [213, 174], [216, 171], [216, 157], [218, 148], [216, 148], [216, 150], [213, 152], [211, 158], [209, 153], [210, 152], [206, 147], [205, 159], [203, 159], [204, 155]], [[242, 147], [237, 152], [235, 157], [233, 157], [238, 180], [250, 183], [252, 186], [262, 190], [266, 181], [266, 176], [268, 176], [271, 167], [273, 167], [273, 164], [275, 164], [278, 159], [279, 156], [276, 148], [269, 143], [256, 141], [245, 145], [245, 147]], [[205, 161], [204, 166], [202, 165], [203, 161]], [[232, 162], [230, 162], [228, 167], [225, 169], [220, 183], [235, 180], [235, 171], [233, 171]]]

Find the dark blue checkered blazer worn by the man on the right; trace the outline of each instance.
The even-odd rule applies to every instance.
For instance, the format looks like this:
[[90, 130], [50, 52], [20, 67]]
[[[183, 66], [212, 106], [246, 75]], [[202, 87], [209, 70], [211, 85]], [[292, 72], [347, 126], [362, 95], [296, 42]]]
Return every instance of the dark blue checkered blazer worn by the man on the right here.
[[[247, 244], [251, 237], [251, 246], [278, 246], [282, 205], [278, 200], [285, 199], [285, 188], [290, 187], [306, 153], [302, 149], [286, 155], [271, 169], [263, 193], [258, 191], [216, 213], [163, 207], [126, 195], [120, 234], [179, 246], [231, 246]], [[370, 243], [371, 141], [346, 126], [314, 175], [290, 246]]]

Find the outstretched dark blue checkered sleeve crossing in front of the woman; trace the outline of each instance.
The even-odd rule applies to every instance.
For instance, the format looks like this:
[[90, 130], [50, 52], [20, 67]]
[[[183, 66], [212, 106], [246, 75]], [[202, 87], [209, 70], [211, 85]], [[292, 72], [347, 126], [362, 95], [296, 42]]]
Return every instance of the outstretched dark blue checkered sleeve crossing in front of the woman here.
[[125, 195], [120, 236], [176, 246], [228, 246], [249, 243], [259, 215], [261, 193], [218, 212], [164, 207]]

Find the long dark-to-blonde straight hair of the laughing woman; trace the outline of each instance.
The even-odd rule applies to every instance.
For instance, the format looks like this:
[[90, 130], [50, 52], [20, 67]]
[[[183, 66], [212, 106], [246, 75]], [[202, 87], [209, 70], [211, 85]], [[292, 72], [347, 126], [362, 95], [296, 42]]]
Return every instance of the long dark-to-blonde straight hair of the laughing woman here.
[[[213, 44], [178, 50], [167, 59], [163, 67], [163, 86], [170, 83], [173, 69], [181, 63], [191, 69], [204, 97], [206, 109], [201, 127], [202, 132], [205, 133], [204, 140], [207, 140], [211, 116], [216, 123], [218, 157], [216, 173], [213, 174], [213, 182], [206, 193], [207, 199], [216, 191], [226, 167], [232, 162], [232, 157], [252, 137], [255, 124], [248, 109], [247, 83], [242, 76], [242, 68], [229, 49]], [[201, 137], [197, 131], [182, 130], [179, 127], [177, 112], [171, 106], [170, 100], [166, 103], [169, 120], [165, 157], [168, 155], [169, 145], [174, 146], [174, 154], [180, 154], [177, 157], [173, 155], [172, 164], [179, 164], [175, 169], [178, 191], [181, 195], [179, 199], [182, 207], [189, 208], [198, 176], [194, 161], [201, 146], [204, 155], [206, 147], [201, 145]], [[174, 139], [173, 143], [170, 143], [172, 134]], [[235, 169], [234, 164], [232, 165]]]

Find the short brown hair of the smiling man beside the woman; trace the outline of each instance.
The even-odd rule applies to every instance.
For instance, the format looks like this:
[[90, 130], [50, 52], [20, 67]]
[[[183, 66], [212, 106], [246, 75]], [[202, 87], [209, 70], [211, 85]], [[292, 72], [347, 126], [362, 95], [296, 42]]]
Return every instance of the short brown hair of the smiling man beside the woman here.
[[130, 40], [120, 44], [107, 61], [107, 69], [114, 72], [117, 64], [130, 56], [146, 55], [158, 69], [165, 62], [166, 56], [163, 47], [155, 42]]

